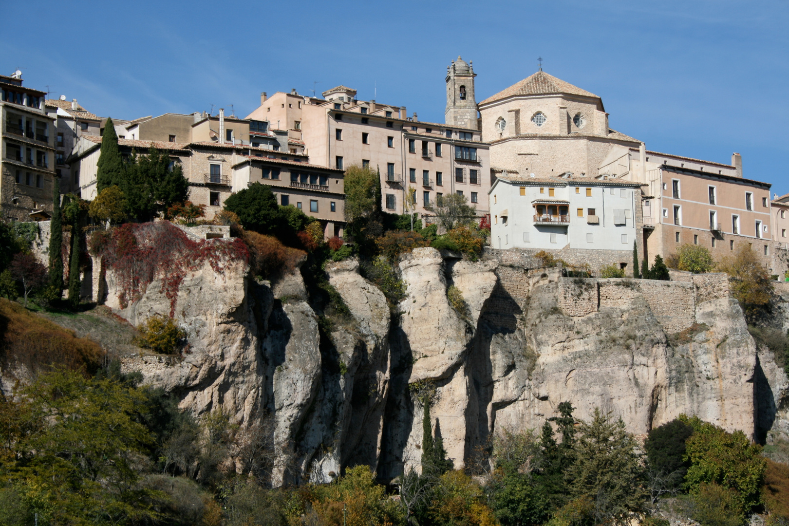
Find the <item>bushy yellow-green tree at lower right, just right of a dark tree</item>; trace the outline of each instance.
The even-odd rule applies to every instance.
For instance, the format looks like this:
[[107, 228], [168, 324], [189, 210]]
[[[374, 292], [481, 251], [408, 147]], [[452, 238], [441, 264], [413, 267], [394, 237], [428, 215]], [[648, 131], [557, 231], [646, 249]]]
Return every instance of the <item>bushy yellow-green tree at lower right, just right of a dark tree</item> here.
[[686, 489], [700, 494], [701, 484], [716, 483], [737, 492], [737, 504], [744, 517], [761, 503], [760, 488], [767, 462], [761, 446], [754, 444], [742, 431], [728, 433], [697, 416], [680, 418], [694, 433], [685, 442], [685, 459], [690, 461], [685, 476]]

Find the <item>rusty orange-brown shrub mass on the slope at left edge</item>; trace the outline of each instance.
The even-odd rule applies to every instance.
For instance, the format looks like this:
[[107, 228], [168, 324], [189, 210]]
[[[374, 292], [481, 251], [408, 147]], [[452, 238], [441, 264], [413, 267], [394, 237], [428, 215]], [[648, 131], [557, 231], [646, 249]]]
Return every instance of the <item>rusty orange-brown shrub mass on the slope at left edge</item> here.
[[77, 338], [73, 331], [43, 319], [9, 300], [0, 300], [0, 367], [24, 365], [37, 372], [51, 365], [94, 374], [104, 352], [95, 341]]

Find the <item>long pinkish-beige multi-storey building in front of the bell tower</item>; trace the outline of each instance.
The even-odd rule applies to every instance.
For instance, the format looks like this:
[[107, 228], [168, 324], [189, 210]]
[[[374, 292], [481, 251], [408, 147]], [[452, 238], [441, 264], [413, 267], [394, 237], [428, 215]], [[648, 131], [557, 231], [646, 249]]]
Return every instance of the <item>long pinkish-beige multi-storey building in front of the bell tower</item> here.
[[[380, 170], [385, 211], [407, 213], [406, 196], [413, 192], [413, 211], [424, 217], [431, 216], [429, 208], [448, 193], [466, 196], [479, 215], [489, 213], [488, 144], [477, 129], [419, 121], [417, 114], [409, 118], [405, 106], [360, 101], [357, 91], [345, 86], [322, 95], [324, 99], [317, 99], [295, 90], [271, 98], [263, 94], [260, 107], [247, 118], [286, 126], [291, 140], [305, 145], [312, 164]], [[466, 97], [473, 103], [471, 84]]]

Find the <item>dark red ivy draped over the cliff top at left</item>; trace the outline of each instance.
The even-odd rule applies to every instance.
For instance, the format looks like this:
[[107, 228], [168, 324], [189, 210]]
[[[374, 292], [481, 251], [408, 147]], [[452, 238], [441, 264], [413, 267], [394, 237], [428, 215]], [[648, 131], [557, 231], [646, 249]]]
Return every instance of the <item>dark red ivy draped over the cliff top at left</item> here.
[[140, 300], [157, 277], [161, 292], [170, 300], [170, 317], [175, 314], [178, 289], [187, 272], [205, 262], [222, 274], [228, 263], [249, 260], [249, 250], [240, 239], [193, 241], [168, 221], [125, 223], [111, 230], [99, 230], [91, 237], [91, 252], [102, 256], [107, 269], [118, 279], [118, 300], [122, 308]]

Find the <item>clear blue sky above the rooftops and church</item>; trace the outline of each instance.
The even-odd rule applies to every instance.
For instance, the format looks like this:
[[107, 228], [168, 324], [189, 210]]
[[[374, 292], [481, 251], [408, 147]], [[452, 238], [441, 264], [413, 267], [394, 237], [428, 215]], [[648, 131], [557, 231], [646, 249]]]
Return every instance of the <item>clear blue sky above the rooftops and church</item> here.
[[[40, 9], [39, 9], [40, 6]], [[16, 11], [16, 12], [15, 12]], [[2, 72], [101, 116], [232, 107], [345, 84], [443, 121], [444, 76], [472, 60], [477, 100], [544, 70], [602, 97], [650, 150], [730, 162], [789, 192], [789, 2], [24, 2]], [[40, 13], [40, 15], [38, 14]], [[313, 82], [318, 81], [317, 84]], [[374, 91], [377, 91], [374, 95]]]

